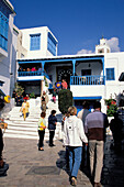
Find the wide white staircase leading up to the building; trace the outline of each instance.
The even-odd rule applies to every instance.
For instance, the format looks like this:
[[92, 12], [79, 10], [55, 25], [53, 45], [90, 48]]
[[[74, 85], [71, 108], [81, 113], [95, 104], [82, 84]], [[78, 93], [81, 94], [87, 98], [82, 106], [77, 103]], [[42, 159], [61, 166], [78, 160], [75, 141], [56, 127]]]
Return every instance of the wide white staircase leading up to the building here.
[[[47, 105], [48, 109], [46, 110], [46, 123], [48, 125], [48, 116], [50, 111], [56, 110], [57, 117], [57, 127], [55, 131], [55, 140], [61, 139], [61, 113], [58, 110], [58, 99], [56, 99], [56, 103], [52, 101], [52, 96], [48, 95], [49, 102]], [[40, 100], [40, 98], [38, 98]], [[34, 102], [37, 105], [31, 105], [30, 102], [30, 114], [24, 121], [22, 113], [20, 112], [21, 107], [14, 107], [5, 118], [4, 122], [8, 123], [8, 129], [5, 130], [4, 138], [19, 138], [19, 139], [34, 139], [38, 140], [37, 132], [37, 122], [41, 117], [41, 103], [34, 99]], [[49, 140], [49, 131], [45, 130], [45, 140]]]

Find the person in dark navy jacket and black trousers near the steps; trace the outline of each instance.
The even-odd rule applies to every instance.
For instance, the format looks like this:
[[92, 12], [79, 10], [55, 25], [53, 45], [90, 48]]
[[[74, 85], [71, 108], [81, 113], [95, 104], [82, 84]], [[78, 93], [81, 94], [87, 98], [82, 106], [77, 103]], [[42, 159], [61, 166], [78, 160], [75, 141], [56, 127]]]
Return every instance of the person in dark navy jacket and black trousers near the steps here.
[[50, 116], [48, 117], [48, 130], [49, 130], [49, 146], [55, 146], [53, 144], [53, 139], [55, 135], [57, 118], [55, 117], [56, 110], [52, 110]]

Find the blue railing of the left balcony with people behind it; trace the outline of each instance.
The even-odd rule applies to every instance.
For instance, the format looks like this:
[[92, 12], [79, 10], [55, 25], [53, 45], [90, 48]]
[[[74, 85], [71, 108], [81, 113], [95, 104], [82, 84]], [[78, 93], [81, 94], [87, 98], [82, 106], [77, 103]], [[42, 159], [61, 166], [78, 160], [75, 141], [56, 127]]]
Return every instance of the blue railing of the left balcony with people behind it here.
[[26, 76], [45, 76], [49, 79], [48, 75], [44, 70], [35, 70], [35, 72], [18, 72], [19, 77], [26, 77]]

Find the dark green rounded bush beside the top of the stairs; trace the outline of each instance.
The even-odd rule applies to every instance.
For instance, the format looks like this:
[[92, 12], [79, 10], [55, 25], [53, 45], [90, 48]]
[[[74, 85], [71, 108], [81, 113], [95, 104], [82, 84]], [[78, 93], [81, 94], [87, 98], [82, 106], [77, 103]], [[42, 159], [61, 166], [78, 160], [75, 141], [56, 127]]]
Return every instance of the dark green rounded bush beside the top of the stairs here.
[[63, 89], [58, 92], [58, 108], [63, 114], [67, 113], [68, 108], [72, 106], [72, 92], [68, 89]]

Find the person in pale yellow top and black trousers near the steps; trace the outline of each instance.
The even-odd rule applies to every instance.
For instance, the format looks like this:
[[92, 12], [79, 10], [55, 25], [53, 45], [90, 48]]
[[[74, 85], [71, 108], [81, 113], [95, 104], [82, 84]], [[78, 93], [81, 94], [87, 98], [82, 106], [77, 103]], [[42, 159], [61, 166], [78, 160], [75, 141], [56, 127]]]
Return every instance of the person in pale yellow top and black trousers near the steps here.
[[40, 135], [40, 143], [38, 143], [38, 151], [44, 151], [43, 142], [46, 129], [46, 121], [45, 121], [46, 113], [42, 112], [41, 118], [38, 120], [38, 135]]

